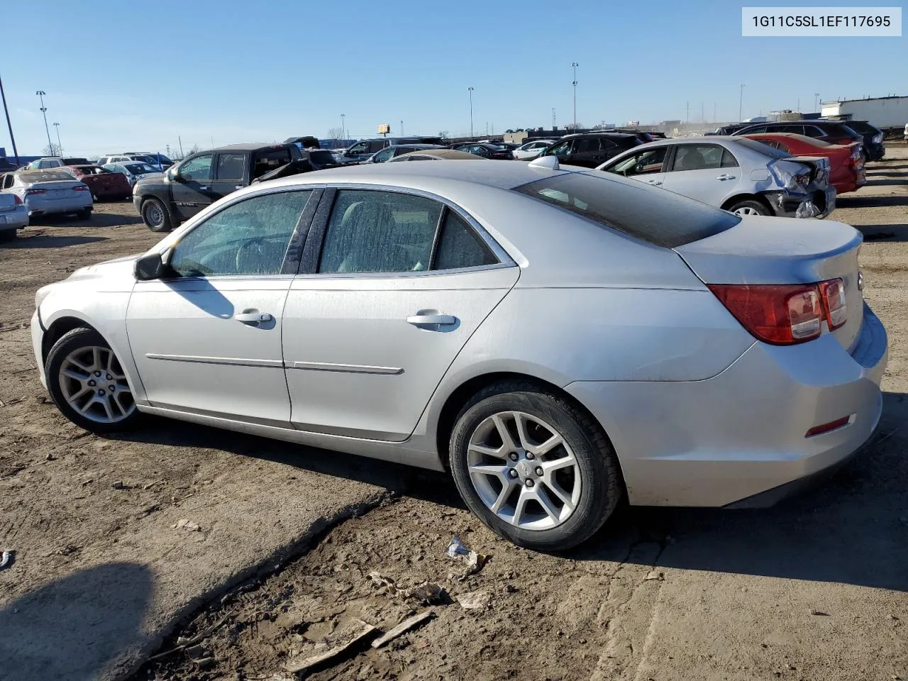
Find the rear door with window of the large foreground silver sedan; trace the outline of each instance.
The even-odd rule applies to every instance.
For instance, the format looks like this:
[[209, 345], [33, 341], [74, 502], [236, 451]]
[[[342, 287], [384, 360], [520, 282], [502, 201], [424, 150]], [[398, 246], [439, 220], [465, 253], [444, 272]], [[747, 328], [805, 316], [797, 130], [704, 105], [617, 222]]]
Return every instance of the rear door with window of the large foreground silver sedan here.
[[478, 223], [434, 198], [331, 193], [284, 310], [291, 420], [310, 432], [401, 441], [518, 267]]

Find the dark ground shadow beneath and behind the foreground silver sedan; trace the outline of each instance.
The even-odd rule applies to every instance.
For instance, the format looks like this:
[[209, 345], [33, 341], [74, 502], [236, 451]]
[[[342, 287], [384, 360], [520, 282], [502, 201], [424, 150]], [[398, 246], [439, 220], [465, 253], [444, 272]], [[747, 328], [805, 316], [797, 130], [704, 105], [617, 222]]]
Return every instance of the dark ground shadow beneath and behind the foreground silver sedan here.
[[[908, 591], [908, 399], [885, 393], [872, 441], [834, 477], [774, 508], [619, 506], [595, 538], [567, 557], [634, 562], [644, 542], [658, 565]], [[448, 508], [465, 508], [445, 473], [262, 439], [180, 421], [114, 436], [217, 448], [323, 475], [355, 479]], [[647, 555], [651, 552], [646, 552]]]

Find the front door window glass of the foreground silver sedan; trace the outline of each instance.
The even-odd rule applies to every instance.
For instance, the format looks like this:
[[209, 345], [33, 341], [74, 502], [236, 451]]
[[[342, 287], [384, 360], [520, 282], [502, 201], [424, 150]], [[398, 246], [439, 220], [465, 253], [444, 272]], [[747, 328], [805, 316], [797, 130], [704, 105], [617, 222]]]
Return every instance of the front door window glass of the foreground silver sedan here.
[[311, 190], [253, 196], [199, 224], [173, 247], [183, 277], [280, 274]]

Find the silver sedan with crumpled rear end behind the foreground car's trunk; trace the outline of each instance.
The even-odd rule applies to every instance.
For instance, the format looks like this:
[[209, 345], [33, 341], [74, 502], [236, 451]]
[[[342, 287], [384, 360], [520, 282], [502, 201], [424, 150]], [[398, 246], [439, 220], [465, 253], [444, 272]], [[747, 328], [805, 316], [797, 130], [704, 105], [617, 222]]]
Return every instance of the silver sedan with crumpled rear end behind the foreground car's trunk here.
[[643, 144], [597, 170], [740, 215], [824, 217], [835, 207], [829, 160], [791, 156], [743, 137], [685, 137]]

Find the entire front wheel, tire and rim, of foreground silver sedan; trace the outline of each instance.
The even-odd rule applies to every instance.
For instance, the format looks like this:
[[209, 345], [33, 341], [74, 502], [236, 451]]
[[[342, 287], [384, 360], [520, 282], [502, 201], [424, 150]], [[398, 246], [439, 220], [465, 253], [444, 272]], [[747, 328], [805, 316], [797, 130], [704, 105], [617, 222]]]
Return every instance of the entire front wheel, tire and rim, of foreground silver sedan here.
[[119, 432], [142, 418], [119, 360], [94, 329], [74, 329], [56, 341], [47, 354], [44, 376], [57, 409], [80, 428]]

